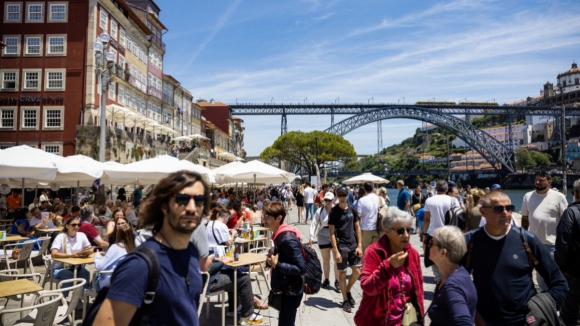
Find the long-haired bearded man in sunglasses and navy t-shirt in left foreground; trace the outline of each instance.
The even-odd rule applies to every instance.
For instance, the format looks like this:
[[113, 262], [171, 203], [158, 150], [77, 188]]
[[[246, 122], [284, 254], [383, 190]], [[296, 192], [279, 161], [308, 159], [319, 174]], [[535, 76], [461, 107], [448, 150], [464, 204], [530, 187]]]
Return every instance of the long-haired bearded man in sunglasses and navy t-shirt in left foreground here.
[[[153, 237], [141, 246], [159, 261], [159, 282], [153, 301], [141, 309], [150, 325], [199, 325], [197, 308], [202, 291], [198, 252], [190, 242], [201, 216], [209, 211], [209, 189], [201, 175], [179, 171], [162, 179], [139, 212], [141, 225], [152, 226]], [[128, 254], [116, 267], [111, 288], [93, 325], [129, 325], [144, 307], [149, 266]]]

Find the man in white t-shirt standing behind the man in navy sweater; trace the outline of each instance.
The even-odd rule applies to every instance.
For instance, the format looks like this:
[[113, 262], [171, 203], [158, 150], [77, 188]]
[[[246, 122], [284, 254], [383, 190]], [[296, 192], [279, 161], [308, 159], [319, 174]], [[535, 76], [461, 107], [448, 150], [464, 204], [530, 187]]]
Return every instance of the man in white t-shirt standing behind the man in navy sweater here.
[[[566, 196], [552, 190], [550, 173], [538, 172], [536, 190], [526, 193], [522, 201], [522, 227], [538, 237], [552, 258], [556, 245], [556, 227], [567, 207]], [[546, 282], [537, 275], [538, 285], [543, 291], [547, 291]]]

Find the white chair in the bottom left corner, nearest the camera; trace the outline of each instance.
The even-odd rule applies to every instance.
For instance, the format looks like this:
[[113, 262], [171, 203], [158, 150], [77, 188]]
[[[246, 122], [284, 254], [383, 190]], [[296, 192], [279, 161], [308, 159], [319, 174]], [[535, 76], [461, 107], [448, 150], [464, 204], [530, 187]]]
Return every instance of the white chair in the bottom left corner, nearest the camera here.
[[[47, 293], [36, 298], [34, 305], [24, 308], [2, 309], [0, 310], [0, 324], [4, 325], [4, 315], [11, 313], [22, 313], [30, 311], [30, 314], [23, 319], [16, 321], [14, 325], [49, 326], [55, 323], [55, 316], [58, 304], [62, 299], [61, 293]], [[31, 317], [34, 315], [34, 317]], [[41, 316], [41, 318], [36, 318]]]

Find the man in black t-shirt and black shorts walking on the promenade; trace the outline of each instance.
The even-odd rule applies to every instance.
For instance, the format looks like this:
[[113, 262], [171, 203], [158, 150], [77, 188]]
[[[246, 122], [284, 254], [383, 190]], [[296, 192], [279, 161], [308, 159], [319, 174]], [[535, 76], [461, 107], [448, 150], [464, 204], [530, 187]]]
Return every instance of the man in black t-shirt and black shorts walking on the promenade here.
[[[342, 310], [351, 312], [356, 301], [350, 294], [350, 290], [360, 275], [363, 253], [360, 219], [356, 209], [346, 203], [348, 197], [346, 188], [339, 188], [336, 194], [338, 196], [338, 205], [330, 210], [328, 231], [330, 233], [332, 251], [336, 258], [336, 268], [339, 273], [340, 292], [343, 300]], [[350, 274], [347, 284], [346, 268], [348, 266], [350, 266], [352, 274]]]

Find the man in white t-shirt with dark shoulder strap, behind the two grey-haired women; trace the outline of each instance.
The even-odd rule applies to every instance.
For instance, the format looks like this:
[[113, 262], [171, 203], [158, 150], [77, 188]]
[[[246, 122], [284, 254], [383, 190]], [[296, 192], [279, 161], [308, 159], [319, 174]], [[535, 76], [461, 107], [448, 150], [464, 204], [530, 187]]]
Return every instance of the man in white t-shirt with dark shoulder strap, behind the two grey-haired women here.
[[[423, 244], [427, 246], [429, 240], [435, 234], [435, 230], [445, 225], [445, 213], [451, 208], [453, 202], [459, 206], [456, 198], [447, 195], [447, 181], [437, 180], [435, 191], [437, 194], [427, 198], [425, 201], [425, 217], [423, 221], [424, 229]], [[432, 265], [435, 282], [441, 281], [441, 273], [437, 266]]]

